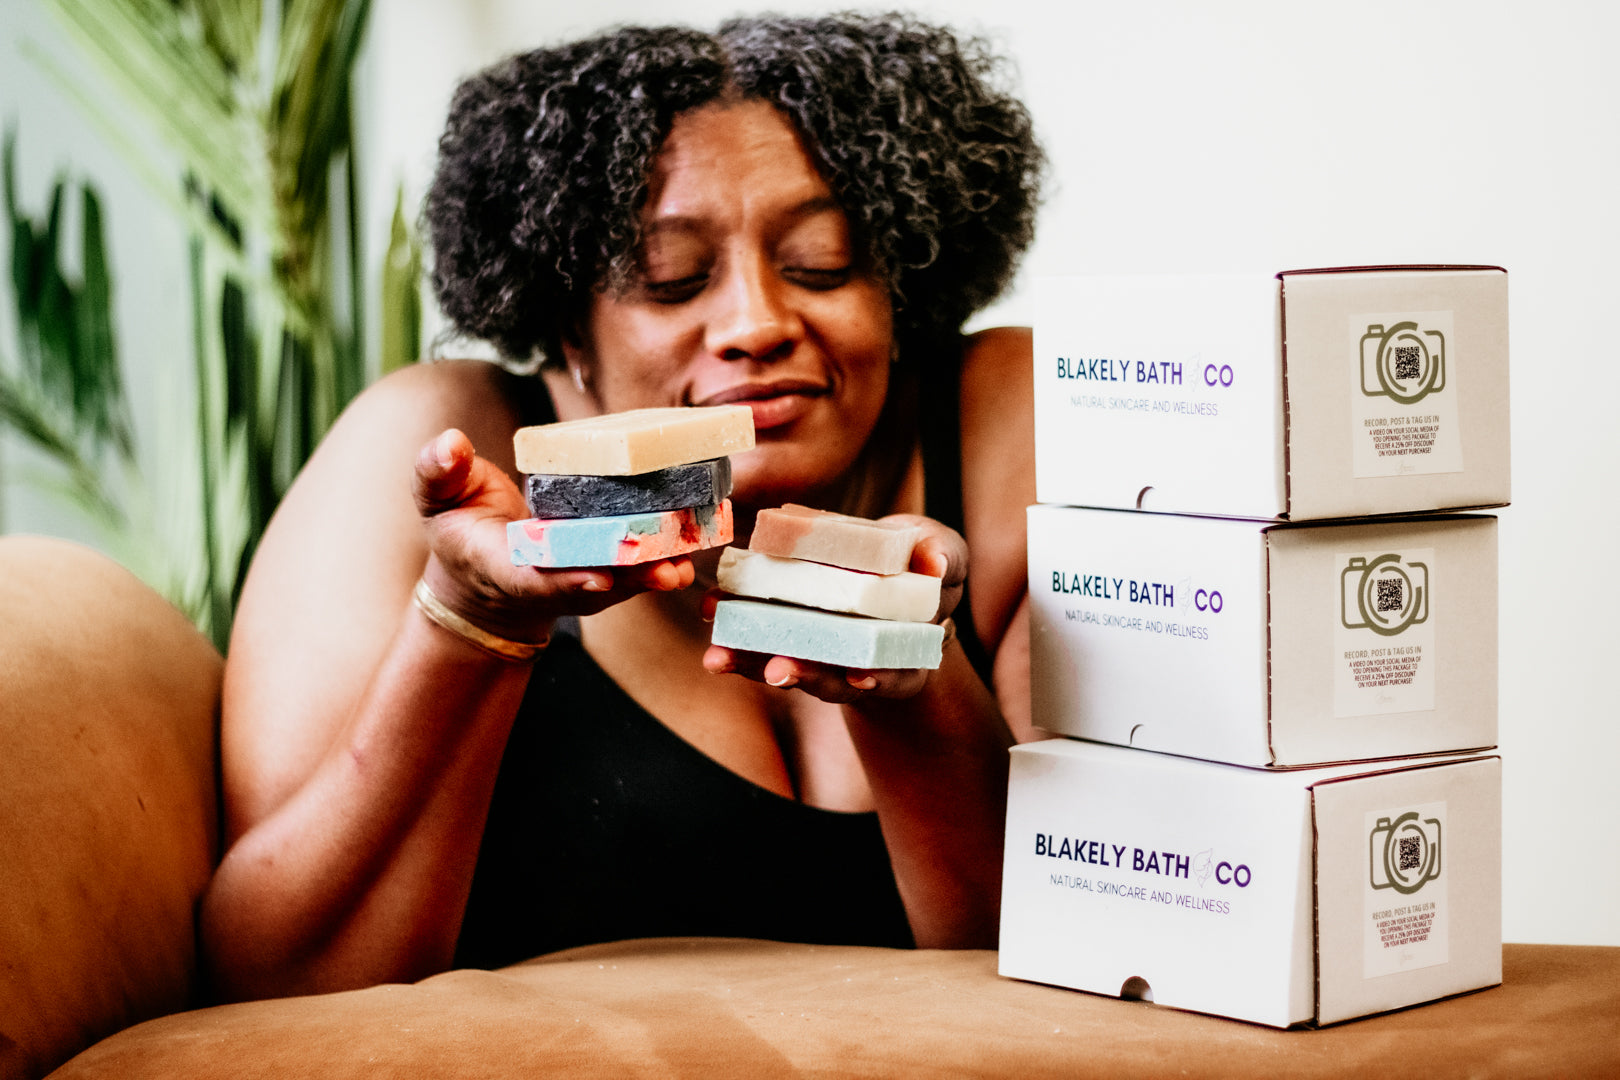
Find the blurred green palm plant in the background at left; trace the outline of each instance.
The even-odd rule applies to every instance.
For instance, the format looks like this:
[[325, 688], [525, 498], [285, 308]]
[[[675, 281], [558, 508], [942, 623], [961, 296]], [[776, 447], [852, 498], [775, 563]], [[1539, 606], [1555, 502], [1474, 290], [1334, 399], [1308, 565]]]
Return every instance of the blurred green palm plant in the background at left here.
[[[201, 551], [175, 554], [167, 580], [172, 599], [224, 646], [271, 512], [364, 382], [350, 84], [371, 3], [280, 0], [271, 18], [264, 0], [45, 3], [183, 162], [180, 176], [165, 178], [138, 139], [120, 134], [112, 110], [60, 65], [42, 62], [185, 223], [198, 398], [193, 415], [172, 416], [165, 427], [181, 421], [194, 429], [199, 468], [185, 497], [201, 504], [202, 520]], [[104, 449], [87, 450], [78, 434], [50, 442], [63, 432], [36, 423], [49, 415], [13, 408], [0, 421], [32, 424], [36, 444], [53, 447], [47, 453], [60, 461], [70, 452], [92, 466], [104, 453], [130, 460], [102, 206], [89, 191], [78, 204], [83, 280], [70, 282], [55, 254], [63, 191], [45, 220], [19, 212], [13, 157], [8, 134], [10, 270], [19, 306], [28, 306], [19, 317], [23, 369], [49, 400], [73, 402], [75, 426]], [[420, 249], [415, 259], [411, 298]], [[390, 301], [397, 311], [386, 316], [387, 334], [415, 353], [421, 313], [400, 296]]]

